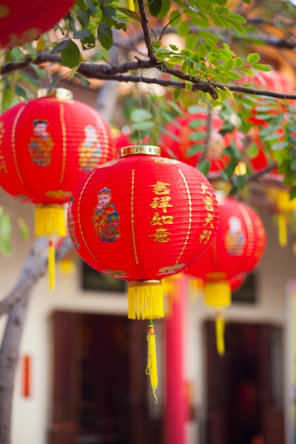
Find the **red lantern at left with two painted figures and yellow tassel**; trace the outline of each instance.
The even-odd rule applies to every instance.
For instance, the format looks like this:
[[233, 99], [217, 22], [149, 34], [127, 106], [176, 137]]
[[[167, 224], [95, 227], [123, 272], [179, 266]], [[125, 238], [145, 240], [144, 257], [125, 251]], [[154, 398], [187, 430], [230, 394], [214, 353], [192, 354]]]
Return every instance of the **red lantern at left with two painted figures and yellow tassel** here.
[[[0, 186], [36, 204], [35, 235], [65, 236], [64, 205], [94, 167], [116, 156], [106, 122], [90, 106], [57, 89], [0, 116]], [[49, 265], [54, 248], [50, 240]], [[54, 287], [50, 267], [50, 288]]]

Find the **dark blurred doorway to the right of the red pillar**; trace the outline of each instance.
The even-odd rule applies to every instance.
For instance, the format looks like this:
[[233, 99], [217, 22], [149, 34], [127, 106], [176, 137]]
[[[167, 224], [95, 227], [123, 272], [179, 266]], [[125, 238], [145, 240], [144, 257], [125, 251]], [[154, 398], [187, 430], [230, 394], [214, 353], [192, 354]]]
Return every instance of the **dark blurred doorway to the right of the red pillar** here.
[[283, 428], [283, 345], [276, 326], [226, 323], [224, 356], [214, 322], [205, 323], [207, 444], [280, 444]]

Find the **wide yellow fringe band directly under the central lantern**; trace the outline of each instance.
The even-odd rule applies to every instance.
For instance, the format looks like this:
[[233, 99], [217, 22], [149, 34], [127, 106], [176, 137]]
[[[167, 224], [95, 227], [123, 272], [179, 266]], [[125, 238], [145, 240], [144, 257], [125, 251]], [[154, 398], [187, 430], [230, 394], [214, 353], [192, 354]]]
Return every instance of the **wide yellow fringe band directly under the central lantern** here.
[[128, 283], [128, 319], [154, 319], [163, 316], [163, 287], [160, 281]]

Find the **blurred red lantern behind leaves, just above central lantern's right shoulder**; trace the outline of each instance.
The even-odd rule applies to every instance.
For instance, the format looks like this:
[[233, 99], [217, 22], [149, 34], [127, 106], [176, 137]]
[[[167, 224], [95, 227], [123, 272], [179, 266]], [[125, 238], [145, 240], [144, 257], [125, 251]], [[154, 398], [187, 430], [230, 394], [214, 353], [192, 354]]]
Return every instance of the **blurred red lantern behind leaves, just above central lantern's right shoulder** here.
[[[207, 113], [197, 113], [181, 116], [168, 125], [160, 140], [160, 148], [164, 157], [181, 160], [182, 162], [197, 167], [201, 151], [190, 154], [190, 149], [194, 145], [205, 145], [205, 137], [200, 139], [200, 133], [207, 133]], [[195, 122], [195, 123], [194, 123]], [[224, 155], [223, 150], [231, 145], [231, 141], [235, 140], [237, 148], [243, 150], [242, 135], [239, 131], [221, 135], [219, 132], [222, 128], [223, 121], [216, 114], [211, 116], [211, 131], [209, 138], [209, 148], [207, 150], [207, 159], [210, 162], [210, 171], [219, 172], [224, 170], [229, 160], [229, 156]], [[194, 125], [195, 130], [192, 128]], [[196, 126], [198, 126], [196, 128]], [[194, 132], [198, 136], [198, 140], [194, 141]]]

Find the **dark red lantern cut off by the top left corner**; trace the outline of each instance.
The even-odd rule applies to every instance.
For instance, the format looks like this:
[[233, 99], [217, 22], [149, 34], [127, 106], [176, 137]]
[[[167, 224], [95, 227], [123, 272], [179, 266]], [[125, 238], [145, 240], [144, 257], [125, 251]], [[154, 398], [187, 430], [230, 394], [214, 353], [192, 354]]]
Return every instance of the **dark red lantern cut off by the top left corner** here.
[[12, 48], [36, 40], [65, 16], [73, 0], [1, 0], [0, 44]]

